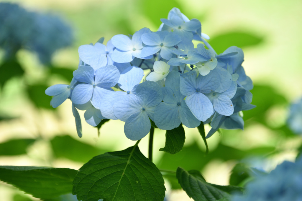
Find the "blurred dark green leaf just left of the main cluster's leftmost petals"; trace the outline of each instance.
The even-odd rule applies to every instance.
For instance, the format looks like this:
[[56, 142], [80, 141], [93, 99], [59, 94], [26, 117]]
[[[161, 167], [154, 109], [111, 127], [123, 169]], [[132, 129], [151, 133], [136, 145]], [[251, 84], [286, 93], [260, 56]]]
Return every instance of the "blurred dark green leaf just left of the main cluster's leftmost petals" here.
[[54, 109], [50, 106], [50, 100], [52, 99], [51, 96], [47, 96], [45, 94], [45, 90], [48, 86], [46, 85], [33, 85], [28, 86], [27, 92], [31, 101], [36, 105], [38, 108], [47, 108], [47, 109]]

